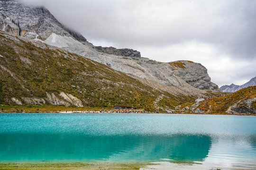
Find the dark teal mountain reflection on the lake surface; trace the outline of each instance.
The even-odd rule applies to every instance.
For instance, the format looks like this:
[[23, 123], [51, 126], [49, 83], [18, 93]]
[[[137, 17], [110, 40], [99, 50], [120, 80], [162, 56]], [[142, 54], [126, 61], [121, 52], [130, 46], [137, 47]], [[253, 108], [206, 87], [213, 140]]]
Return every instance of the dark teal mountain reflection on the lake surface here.
[[206, 135], [86, 136], [82, 134], [0, 134], [0, 160], [203, 161]]

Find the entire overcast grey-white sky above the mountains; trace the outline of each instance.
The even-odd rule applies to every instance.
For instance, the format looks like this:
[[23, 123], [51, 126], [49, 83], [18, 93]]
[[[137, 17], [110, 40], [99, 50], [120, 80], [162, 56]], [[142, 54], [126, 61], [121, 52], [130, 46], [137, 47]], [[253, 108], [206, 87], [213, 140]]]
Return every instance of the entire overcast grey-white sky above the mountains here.
[[256, 76], [256, 0], [22, 0], [94, 45], [162, 62], [191, 60], [217, 85]]

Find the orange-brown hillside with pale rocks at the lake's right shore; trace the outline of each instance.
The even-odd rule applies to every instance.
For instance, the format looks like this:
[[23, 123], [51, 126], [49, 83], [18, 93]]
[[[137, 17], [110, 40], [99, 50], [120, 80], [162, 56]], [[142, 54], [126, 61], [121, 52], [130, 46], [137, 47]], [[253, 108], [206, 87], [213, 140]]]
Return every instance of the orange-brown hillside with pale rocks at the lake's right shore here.
[[183, 104], [177, 109], [183, 112], [210, 114], [256, 114], [256, 86], [219, 97], [198, 99], [196, 103]]

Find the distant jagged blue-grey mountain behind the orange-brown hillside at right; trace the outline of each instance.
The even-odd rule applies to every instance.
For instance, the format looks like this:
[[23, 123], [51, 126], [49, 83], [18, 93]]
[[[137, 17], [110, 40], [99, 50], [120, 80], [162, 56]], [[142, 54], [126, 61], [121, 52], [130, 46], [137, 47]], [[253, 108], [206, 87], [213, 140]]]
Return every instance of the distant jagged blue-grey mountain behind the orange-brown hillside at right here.
[[249, 86], [253, 86], [256, 85], [256, 77], [252, 78], [250, 81], [248, 81], [247, 83], [243, 84], [243, 85], [223, 85], [221, 86], [219, 89], [222, 90], [223, 92], [237, 92], [240, 89], [249, 87]]

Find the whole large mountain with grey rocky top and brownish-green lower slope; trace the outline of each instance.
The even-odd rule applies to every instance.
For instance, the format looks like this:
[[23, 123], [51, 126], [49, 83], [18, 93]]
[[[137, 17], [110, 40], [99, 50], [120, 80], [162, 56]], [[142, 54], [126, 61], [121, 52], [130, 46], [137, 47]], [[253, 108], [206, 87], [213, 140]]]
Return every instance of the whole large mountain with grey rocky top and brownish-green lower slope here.
[[199, 63], [164, 63], [132, 49], [95, 47], [44, 7], [0, 0], [0, 29], [5, 31], [0, 32], [4, 103], [126, 104], [152, 110], [161, 95], [159, 107], [174, 109], [219, 92]]

